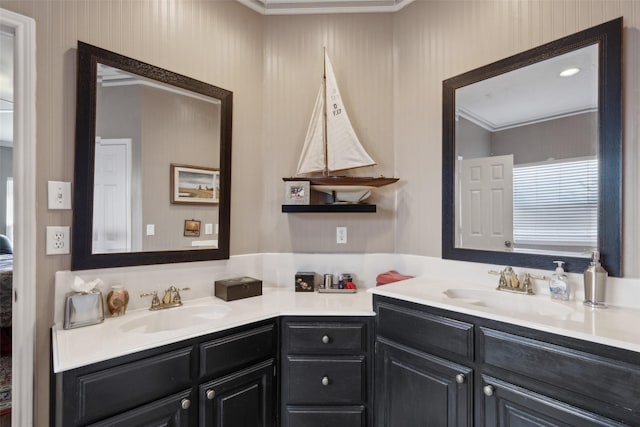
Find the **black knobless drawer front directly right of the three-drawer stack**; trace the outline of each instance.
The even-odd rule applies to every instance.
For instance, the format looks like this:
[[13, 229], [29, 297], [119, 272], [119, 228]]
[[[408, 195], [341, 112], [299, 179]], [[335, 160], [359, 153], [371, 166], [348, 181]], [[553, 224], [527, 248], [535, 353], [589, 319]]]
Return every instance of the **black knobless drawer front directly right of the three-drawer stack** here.
[[473, 324], [386, 302], [377, 303], [376, 334], [411, 348], [473, 360]]

